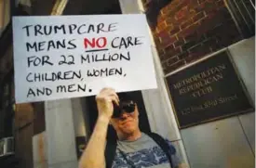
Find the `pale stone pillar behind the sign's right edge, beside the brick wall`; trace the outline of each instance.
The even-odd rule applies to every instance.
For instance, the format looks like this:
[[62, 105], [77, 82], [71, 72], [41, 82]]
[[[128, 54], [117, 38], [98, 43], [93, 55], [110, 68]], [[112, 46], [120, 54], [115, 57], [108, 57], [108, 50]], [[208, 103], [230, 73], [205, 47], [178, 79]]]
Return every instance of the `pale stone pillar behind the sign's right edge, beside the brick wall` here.
[[[119, 3], [123, 14], [144, 13], [141, 0], [119, 0]], [[172, 141], [177, 149], [178, 155], [188, 164], [181, 134], [169, 101], [168, 90], [165, 85], [164, 73], [156, 51], [155, 41], [150, 28], [148, 31], [151, 36], [151, 49], [155, 63], [155, 77], [158, 85], [157, 89], [141, 91], [150, 127], [153, 132], [165, 136]]]

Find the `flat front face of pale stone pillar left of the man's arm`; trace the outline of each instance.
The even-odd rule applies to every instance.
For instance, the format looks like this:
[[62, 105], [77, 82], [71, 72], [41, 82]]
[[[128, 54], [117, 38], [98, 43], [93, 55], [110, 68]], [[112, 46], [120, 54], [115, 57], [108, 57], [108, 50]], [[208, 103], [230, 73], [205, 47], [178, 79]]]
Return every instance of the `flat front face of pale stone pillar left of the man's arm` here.
[[45, 103], [48, 168], [77, 167], [71, 99]]

